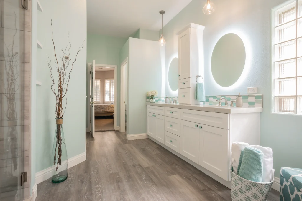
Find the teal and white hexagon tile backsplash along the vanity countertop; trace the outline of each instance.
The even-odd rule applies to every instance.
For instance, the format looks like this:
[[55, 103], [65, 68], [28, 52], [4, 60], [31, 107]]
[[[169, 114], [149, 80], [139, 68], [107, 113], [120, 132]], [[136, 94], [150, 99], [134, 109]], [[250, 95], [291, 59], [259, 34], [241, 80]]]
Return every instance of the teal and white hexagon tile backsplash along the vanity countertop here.
[[[221, 97], [226, 98], [229, 105], [231, 105], [231, 100], [236, 100], [237, 96], [206, 96], [206, 102], [204, 105], [218, 105], [219, 99]], [[263, 106], [263, 95], [241, 95], [243, 99], [243, 107], [255, 107], [255, 108], [262, 108]], [[168, 98], [178, 98], [177, 96], [168, 97]], [[165, 102], [165, 97], [155, 97], [156, 102]], [[146, 97], [146, 102], [149, 102], [149, 97]], [[224, 102], [221, 105], [225, 105]], [[236, 106], [236, 103], [234, 103]]]

